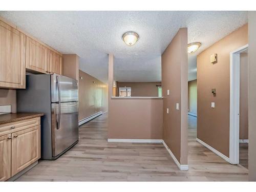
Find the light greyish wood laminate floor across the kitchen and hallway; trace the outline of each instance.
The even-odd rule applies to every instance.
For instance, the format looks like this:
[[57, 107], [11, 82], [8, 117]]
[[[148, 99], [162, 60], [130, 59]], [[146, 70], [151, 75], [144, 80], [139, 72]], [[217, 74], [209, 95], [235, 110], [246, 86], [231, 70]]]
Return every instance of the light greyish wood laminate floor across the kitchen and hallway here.
[[196, 142], [189, 119], [188, 171], [178, 169], [160, 144], [108, 143], [107, 114], [79, 127], [79, 142], [55, 161], [38, 165], [17, 181], [247, 181], [248, 169], [231, 165]]

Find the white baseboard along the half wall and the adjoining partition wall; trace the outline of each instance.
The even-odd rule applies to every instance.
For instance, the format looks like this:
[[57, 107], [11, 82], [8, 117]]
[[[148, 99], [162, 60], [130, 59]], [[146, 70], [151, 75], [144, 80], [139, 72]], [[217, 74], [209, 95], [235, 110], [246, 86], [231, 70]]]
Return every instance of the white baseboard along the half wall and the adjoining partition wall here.
[[108, 142], [121, 142], [121, 143], [163, 143], [164, 147], [166, 148], [167, 152], [173, 158], [176, 165], [179, 167], [180, 170], [188, 170], [188, 165], [181, 165], [179, 161], [176, 159], [172, 151], [170, 151], [169, 147], [165, 144], [164, 140], [162, 139], [108, 139]]

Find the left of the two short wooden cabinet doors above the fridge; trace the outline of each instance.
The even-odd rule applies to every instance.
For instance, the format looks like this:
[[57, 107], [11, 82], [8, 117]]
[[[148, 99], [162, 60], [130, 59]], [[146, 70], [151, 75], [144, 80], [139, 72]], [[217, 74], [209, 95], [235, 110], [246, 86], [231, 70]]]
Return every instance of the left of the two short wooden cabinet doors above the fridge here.
[[26, 68], [48, 73], [48, 48], [27, 36]]

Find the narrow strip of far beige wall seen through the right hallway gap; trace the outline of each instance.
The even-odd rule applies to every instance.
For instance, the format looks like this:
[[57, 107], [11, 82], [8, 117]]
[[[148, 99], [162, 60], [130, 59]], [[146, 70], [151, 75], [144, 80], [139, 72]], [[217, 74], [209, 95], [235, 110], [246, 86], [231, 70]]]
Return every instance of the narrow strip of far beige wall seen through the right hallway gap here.
[[188, 81], [188, 112], [197, 114], [197, 79]]

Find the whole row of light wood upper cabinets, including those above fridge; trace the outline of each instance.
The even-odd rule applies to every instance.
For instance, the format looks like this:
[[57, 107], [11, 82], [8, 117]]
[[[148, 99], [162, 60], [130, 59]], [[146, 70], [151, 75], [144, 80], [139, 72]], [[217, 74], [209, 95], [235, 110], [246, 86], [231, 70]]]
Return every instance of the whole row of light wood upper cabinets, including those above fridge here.
[[62, 74], [62, 55], [0, 18], [0, 88], [25, 89], [26, 69]]

